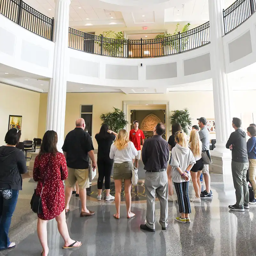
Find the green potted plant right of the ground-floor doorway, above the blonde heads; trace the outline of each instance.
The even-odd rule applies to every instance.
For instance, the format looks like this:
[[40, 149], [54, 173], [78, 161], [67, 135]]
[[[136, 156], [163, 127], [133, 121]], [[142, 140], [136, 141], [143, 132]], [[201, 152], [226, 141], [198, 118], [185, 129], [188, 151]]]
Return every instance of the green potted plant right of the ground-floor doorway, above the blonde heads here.
[[171, 125], [173, 123], [178, 123], [181, 125], [182, 130], [188, 134], [188, 128], [192, 125], [192, 118], [190, 117], [188, 108], [183, 108], [182, 110], [174, 110], [170, 118]]

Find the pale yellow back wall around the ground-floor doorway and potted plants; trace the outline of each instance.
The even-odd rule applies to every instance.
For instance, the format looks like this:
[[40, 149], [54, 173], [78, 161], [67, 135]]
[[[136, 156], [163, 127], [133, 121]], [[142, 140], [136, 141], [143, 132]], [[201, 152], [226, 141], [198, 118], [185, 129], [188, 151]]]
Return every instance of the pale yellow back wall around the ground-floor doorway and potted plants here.
[[[92, 114], [92, 137], [95, 148], [98, 148], [94, 136], [100, 130], [101, 120], [100, 115], [112, 111], [112, 107], [123, 110], [124, 100], [169, 100], [170, 109], [189, 108], [193, 124], [197, 124], [196, 118], [205, 116], [208, 118], [214, 117], [212, 92], [169, 92], [167, 94], [124, 94], [124, 93], [67, 93], [66, 100], [66, 118], [65, 118], [65, 136], [74, 129], [75, 121], [80, 117], [80, 105], [93, 105]], [[199, 108], [200, 100], [203, 108]], [[205, 107], [208, 106], [209, 108]], [[40, 95], [40, 111], [38, 123], [38, 137], [42, 138], [45, 132], [46, 122], [46, 106], [47, 94]], [[138, 106], [135, 108], [139, 109]], [[146, 106], [152, 109], [151, 106]], [[161, 105], [160, 108], [163, 106]], [[133, 106], [128, 108], [134, 109]], [[144, 107], [143, 107], [144, 108]], [[140, 108], [141, 109], [141, 108]], [[128, 113], [129, 114], [129, 113]], [[167, 113], [169, 116], [170, 113]], [[167, 129], [170, 130], [169, 120]], [[128, 125], [129, 127], [129, 125]]]

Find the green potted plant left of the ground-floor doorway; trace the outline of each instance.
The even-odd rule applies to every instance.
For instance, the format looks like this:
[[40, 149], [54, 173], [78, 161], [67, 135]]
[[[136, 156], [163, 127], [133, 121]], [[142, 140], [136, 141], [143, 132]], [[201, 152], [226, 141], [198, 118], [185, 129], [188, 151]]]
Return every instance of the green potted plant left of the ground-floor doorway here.
[[110, 130], [119, 132], [119, 130], [124, 129], [128, 122], [126, 121], [126, 116], [122, 110], [115, 107], [113, 108], [113, 112], [101, 114], [100, 120], [102, 121], [102, 124], [108, 124]]

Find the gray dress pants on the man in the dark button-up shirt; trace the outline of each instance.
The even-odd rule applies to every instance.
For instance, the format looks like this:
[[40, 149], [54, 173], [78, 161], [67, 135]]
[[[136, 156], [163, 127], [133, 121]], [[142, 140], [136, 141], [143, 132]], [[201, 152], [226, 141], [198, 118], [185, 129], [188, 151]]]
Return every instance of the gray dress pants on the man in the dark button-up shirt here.
[[165, 172], [146, 172], [145, 190], [147, 196], [146, 225], [155, 229], [155, 199], [160, 201], [160, 219], [162, 227], [168, 226], [168, 178]]

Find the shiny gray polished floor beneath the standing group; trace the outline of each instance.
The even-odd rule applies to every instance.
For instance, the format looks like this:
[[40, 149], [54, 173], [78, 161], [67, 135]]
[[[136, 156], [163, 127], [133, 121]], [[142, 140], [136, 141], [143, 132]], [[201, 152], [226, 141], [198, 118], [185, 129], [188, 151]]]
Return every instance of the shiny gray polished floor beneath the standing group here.
[[[143, 171], [140, 171], [140, 177]], [[191, 223], [177, 223], [178, 204], [169, 202], [169, 225], [162, 231], [159, 223], [156, 232], [143, 232], [140, 224], [145, 221], [146, 203], [132, 202], [132, 211], [136, 217], [126, 219], [126, 207], [121, 204], [121, 218], [113, 218], [115, 203], [97, 201], [88, 196], [88, 208], [96, 211], [95, 216], [80, 218], [80, 200], [71, 199], [71, 212], [67, 215], [70, 236], [82, 241], [82, 247], [64, 250], [56, 221], [48, 222], [49, 256], [57, 255], [225, 255], [242, 256], [256, 254], [256, 207], [251, 206], [245, 212], [229, 212], [228, 204], [235, 202], [235, 192], [230, 176], [211, 175], [212, 200], [191, 203]], [[140, 185], [143, 184], [141, 180]], [[40, 255], [41, 246], [36, 234], [36, 214], [31, 212], [29, 201], [34, 183], [24, 179], [23, 191], [12, 220], [10, 236], [17, 247], [9, 252], [0, 252], [0, 256]], [[94, 185], [94, 184], [93, 184]], [[190, 184], [190, 195], [193, 187]], [[114, 193], [114, 191], [112, 190]], [[159, 219], [159, 202], [156, 202], [156, 219]]]

